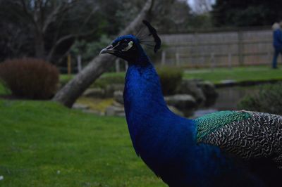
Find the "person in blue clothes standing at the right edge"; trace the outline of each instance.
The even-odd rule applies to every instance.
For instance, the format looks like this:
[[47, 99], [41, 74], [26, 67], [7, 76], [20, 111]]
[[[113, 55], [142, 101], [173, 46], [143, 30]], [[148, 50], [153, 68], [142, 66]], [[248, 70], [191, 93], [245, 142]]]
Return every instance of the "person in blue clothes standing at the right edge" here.
[[[282, 22], [280, 22], [282, 25]], [[281, 31], [281, 25], [278, 24], [278, 22], [275, 22], [274, 25], [272, 25], [273, 30], [273, 45], [274, 45], [274, 58], [272, 60], [272, 68], [277, 68], [277, 58], [279, 53], [282, 55], [282, 31]]]

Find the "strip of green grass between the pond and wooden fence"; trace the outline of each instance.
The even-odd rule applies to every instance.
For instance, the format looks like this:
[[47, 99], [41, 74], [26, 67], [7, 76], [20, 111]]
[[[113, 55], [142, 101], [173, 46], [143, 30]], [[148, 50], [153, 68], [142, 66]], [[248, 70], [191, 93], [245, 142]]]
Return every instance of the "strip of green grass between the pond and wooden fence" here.
[[184, 74], [185, 79], [204, 79], [214, 83], [221, 80], [232, 79], [237, 82], [242, 81], [262, 81], [270, 79], [282, 80], [282, 69], [271, 70], [270, 67], [233, 67], [216, 68], [214, 70], [187, 70]]

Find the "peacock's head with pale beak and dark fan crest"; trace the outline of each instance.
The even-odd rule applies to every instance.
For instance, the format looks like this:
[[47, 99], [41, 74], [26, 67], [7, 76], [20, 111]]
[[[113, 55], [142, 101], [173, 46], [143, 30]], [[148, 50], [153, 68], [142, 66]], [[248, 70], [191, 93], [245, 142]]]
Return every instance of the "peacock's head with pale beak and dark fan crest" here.
[[161, 46], [161, 39], [159, 39], [157, 31], [149, 22], [143, 20], [143, 23], [147, 26], [147, 29], [141, 30], [136, 37], [132, 34], [118, 37], [111, 45], [102, 49], [100, 54], [109, 53], [133, 63], [143, 53], [142, 44], [148, 47], [154, 46], [154, 52], [156, 53]]

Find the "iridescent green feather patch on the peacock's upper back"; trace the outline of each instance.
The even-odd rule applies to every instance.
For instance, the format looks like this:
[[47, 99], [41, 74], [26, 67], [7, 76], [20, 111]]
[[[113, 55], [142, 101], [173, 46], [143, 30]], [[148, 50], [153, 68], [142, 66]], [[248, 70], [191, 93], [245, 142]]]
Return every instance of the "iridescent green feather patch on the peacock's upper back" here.
[[214, 112], [209, 115], [199, 117], [195, 120], [197, 124], [197, 141], [202, 140], [204, 136], [226, 124], [245, 120], [248, 117], [250, 117], [250, 114], [247, 112], [231, 110]]

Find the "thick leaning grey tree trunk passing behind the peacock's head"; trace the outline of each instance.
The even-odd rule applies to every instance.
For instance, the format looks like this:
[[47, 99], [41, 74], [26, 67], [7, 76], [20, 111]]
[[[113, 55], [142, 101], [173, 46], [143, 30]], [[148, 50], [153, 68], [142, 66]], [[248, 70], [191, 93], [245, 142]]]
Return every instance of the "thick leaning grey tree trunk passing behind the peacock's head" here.
[[[142, 26], [142, 20], [149, 16], [149, 13], [154, 4], [154, 0], [147, 0], [142, 11], [137, 17], [130, 22], [128, 27], [125, 27], [118, 35], [125, 35], [135, 33]], [[104, 54], [96, 56], [82, 72], [76, 75], [70, 82], [63, 86], [63, 88], [56, 93], [53, 101], [57, 101], [71, 108], [76, 99], [97, 79], [102, 73], [114, 63], [115, 56]]]

